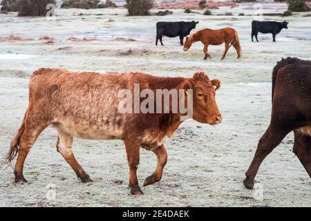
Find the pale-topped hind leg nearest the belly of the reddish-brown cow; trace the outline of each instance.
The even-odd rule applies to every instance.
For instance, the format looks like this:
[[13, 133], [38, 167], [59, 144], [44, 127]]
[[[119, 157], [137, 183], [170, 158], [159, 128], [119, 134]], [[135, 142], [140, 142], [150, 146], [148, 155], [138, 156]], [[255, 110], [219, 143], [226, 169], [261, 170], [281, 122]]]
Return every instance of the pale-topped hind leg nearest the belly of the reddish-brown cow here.
[[66, 162], [68, 162], [68, 164], [77, 174], [77, 177], [79, 177], [82, 180], [82, 182], [93, 182], [93, 180], [91, 180], [91, 178], [88, 176], [88, 174], [86, 174], [82, 166], [80, 166], [80, 164], [75, 159], [75, 155], [73, 155], [72, 144], [73, 144], [73, 137], [59, 130], [57, 140], [57, 151], [59, 151], [59, 153], [62, 154]]

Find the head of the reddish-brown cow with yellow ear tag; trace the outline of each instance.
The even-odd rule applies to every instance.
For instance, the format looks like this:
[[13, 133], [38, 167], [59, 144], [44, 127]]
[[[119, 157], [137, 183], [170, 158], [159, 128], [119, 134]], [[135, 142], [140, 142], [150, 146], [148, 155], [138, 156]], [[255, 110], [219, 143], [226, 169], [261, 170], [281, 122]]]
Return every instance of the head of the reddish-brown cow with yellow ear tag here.
[[220, 88], [220, 80], [209, 80], [205, 73], [195, 73], [190, 79], [193, 89], [193, 119], [205, 124], [219, 124], [221, 114], [216, 104], [216, 90]]

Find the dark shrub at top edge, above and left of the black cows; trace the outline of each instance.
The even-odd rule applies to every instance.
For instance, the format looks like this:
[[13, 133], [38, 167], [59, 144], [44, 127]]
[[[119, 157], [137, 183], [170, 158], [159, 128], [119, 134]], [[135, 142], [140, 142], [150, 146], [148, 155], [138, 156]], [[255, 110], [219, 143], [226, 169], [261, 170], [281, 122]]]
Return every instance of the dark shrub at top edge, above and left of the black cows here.
[[126, 0], [126, 8], [129, 16], [150, 15], [149, 10], [153, 8], [153, 0]]

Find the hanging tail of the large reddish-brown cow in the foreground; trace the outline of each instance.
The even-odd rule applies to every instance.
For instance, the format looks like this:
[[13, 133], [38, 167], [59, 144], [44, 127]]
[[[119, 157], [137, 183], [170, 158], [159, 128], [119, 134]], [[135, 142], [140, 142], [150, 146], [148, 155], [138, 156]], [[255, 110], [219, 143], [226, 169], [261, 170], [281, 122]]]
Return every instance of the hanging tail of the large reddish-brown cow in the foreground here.
[[8, 153], [3, 157], [3, 160], [1, 161], [1, 164], [11, 164], [12, 160], [17, 156], [17, 153], [19, 153], [19, 142], [21, 140], [21, 136], [23, 135], [23, 132], [25, 131], [25, 119], [26, 119], [27, 111], [25, 113], [25, 116], [23, 117], [23, 122], [21, 123], [21, 126], [19, 127], [19, 131], [17, 131], [17, 135], [13, 137], [10, 143], [10, 150]]

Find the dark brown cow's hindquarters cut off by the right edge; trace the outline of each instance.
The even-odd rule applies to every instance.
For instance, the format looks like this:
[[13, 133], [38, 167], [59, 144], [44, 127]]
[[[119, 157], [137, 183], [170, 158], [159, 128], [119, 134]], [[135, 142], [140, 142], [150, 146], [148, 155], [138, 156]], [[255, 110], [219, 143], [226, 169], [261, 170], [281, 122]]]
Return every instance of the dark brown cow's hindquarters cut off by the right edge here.
[[288, 57], [273, 70], [271, 122], [245, 173], [247, 189], [254, 188], [261, 162], [291, 131], [294, 153], [311, 177], [311, 61]]

